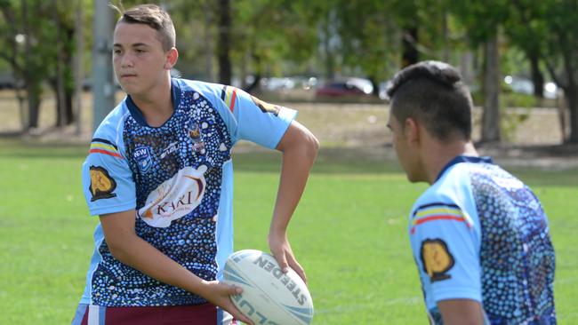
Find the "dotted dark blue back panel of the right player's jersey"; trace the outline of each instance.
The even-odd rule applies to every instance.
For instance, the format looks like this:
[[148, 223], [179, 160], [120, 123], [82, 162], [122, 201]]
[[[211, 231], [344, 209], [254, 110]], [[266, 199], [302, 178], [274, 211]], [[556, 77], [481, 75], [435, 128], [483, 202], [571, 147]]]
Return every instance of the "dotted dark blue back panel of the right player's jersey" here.
[[482, 297], [489, 320], [555, 323], [555, 258], [542, 204], [497, 165], [468, 167], [481, 228]]

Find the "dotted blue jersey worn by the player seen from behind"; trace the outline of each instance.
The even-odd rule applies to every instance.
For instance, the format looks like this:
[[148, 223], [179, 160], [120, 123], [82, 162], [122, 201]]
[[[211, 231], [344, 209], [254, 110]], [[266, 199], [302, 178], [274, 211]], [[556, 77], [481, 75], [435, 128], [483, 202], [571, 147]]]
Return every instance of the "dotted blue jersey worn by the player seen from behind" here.
[[489, 158], [458, 156], [409, 221], [430, 321], [437, 302], [480, 302], [491, 324], [555, 324], [554, 249], [542, 205]]

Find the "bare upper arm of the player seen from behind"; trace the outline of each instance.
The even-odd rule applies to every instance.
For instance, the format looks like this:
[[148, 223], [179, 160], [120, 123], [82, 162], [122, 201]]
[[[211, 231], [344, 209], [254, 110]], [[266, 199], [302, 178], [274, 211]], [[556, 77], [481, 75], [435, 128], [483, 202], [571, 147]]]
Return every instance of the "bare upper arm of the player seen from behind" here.
[[442, 300], [438, 308], [446, 325], [484, 325], [484, 312], [476, 300]]

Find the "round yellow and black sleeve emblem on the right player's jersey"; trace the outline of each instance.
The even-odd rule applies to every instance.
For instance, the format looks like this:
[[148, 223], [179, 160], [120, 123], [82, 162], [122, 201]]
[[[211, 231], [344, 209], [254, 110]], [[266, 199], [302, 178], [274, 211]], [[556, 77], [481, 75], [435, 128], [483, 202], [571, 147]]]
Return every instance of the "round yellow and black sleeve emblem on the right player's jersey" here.
[[446, 272], [454, 267], [454, 257], [447, 249], [446, 242], [441, 239], [426, 239], [421, 242], [420, 258], [423, 271], [432, 282], [452, 277]]

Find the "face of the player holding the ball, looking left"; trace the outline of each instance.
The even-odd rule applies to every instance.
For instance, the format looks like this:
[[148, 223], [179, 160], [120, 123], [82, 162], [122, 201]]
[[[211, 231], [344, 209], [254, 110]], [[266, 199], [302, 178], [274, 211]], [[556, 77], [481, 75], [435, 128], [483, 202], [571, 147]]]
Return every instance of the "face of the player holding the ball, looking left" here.
[[163, 50], [157, 30], [148, 25], [116, 24], [112, 58], [118, 83], [132, 96], [166, 83], [168, 71], [176, 63], [173, 51]]

